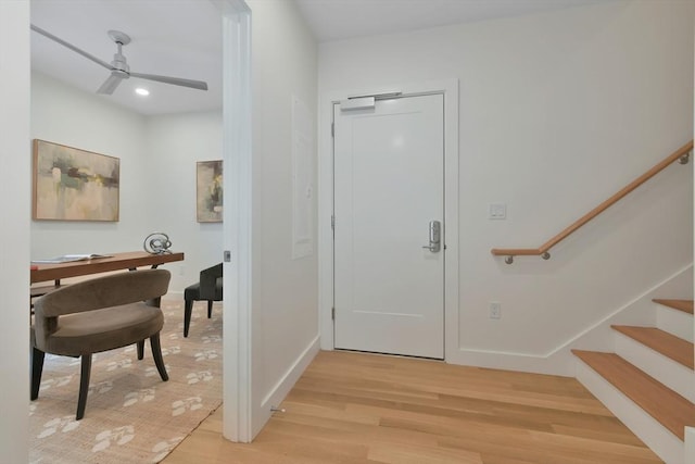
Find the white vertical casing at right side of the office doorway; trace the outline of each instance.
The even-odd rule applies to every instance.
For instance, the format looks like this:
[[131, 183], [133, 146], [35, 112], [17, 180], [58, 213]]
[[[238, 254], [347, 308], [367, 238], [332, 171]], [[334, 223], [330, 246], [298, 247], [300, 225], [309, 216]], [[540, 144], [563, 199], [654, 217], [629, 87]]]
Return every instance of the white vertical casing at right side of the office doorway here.
[[251, 404], [251, 9], [212, 0], [223, 23], [223, 435], [253, 438]]

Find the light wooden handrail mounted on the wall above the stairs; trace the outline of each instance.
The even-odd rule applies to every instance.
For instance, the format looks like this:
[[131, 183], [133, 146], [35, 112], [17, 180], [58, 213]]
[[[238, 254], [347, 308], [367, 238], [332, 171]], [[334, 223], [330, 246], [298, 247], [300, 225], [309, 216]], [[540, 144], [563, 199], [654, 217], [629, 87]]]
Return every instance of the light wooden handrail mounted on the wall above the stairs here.
[[609, 199], [607, 199], [606, 201], [601, 203], [598, 206], [591, 210], [589, 213], [584, 214], [579, 220], [574, 221], [574, 223], [572, 223], [569, 227], [567, 227], [566, 229], [557, 234], [555, 237], [553, 237], [552, 239], [549, 239], [539, 248], [493, 248], [492, 250], [490, 250], [490, 252], [495, 256], [507, 256], [507, 259], [505, 260], [507, 264], [511, 264], [513, 256], [519, 256], [519, 255], [541, 255], [547, 260], [548, 258], [551, 258], [548, 253], [548, 250], [551, 248], [555, 247], [557, 243], [565, 240], [567, 237], [569, 237], [573, 231], [579, 229], [581, 226], [583, 226], [584, 224], [586, 224], [587, 222], [590, 222], [591, 220], [593, 220], [594, 217], [596, 217], [597, 215], [606, 211], [608, 208], [616, 204], [620, 199], [622, 199], [632, 190], [636, 189], [642, 184], [644, 184], [645, 181], [649, 180], [652, 177], [654, 177], [655, 175], [664, 171], [664, 168], [666, 168], [668, 165], [670, 165], [677, 160], [680, 160], [682, 156], [686, 156], [691, 150], [693, 150], [693, 140], [688, 141], [683, 147], [675, 150], [673, 153], [668, 155], [661, 162], [655, 164], [649, 171], [642, 174], [636, 179], [632, 180], [630, 184], [628, 184], [622, 189], [617, 191]]

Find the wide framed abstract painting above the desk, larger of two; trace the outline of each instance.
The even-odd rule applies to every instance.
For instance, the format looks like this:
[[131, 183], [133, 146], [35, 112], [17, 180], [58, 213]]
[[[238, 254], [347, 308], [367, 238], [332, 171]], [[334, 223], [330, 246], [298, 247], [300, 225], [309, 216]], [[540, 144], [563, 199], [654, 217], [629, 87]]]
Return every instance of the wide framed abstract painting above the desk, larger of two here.
[[34, 140], [34, 220], [116, 222], [119, 183], [117, 158]]

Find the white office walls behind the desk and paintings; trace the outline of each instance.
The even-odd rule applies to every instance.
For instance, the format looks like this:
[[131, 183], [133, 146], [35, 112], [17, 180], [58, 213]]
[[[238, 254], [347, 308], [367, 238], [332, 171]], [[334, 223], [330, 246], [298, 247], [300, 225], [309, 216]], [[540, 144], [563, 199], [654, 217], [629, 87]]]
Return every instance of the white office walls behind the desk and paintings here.
[[31, 137], [121, 159], [116, 223], [33, 221], [31, 259], [142, 250], [164, 231], [184, 251], [169, 298], [222, 261], [222, 223], [195, 220], [195, 163], [222, 159], [222, 113], [142, 116], [40, 73], [31, 75]]

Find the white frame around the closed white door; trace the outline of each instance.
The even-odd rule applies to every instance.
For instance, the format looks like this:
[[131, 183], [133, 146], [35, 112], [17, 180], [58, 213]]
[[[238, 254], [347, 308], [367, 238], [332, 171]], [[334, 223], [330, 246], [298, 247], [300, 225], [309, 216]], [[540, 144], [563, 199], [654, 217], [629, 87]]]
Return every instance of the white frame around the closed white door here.
[[394, 85], [321, 96], [318, 109], [318, 324], [321, 350], [333, 349], [333, 104], [351, 96], [400, 91], [444, 96], [444, 359], [458, 350], [458, 79]]

